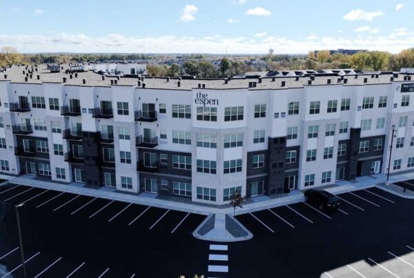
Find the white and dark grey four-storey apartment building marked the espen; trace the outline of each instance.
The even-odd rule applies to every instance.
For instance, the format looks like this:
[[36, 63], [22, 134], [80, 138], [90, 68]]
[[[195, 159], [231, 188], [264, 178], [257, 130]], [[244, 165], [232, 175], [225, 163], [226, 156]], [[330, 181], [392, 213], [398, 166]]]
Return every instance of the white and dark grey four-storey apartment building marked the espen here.
[[[414, 170], [414, 79], [0, 75], [0, 172], [228, 203]], [[67, 73], [66, 73], [67, 72]], [[411, 101], [410, 101], [411, 98]]]

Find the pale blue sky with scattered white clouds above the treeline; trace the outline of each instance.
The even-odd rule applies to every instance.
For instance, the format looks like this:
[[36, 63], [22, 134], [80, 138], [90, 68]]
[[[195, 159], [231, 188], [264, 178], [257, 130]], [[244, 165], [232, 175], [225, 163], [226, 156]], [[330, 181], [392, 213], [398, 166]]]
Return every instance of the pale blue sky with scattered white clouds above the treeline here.
[[414, 46], [408, 0], [0, 0], [21, 52], [306, 53]]

